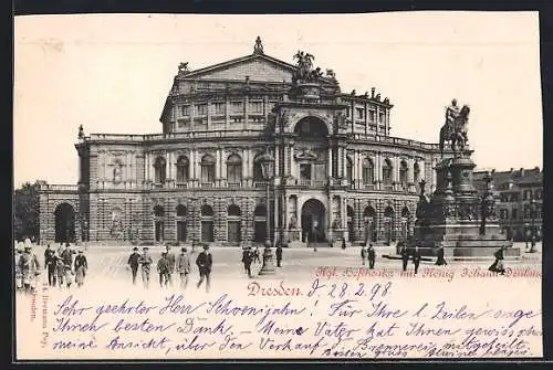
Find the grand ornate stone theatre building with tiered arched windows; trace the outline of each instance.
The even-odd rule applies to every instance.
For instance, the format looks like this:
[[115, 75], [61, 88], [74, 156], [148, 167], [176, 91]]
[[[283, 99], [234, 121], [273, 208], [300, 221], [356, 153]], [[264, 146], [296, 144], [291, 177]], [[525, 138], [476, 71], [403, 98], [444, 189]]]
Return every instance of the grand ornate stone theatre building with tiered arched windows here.
[[41, 241], [262, 242], [265, 151], [273, 240], [301, 242], [307, 230], [319, 242], [407, 237], [420, 179], [435, 186], [438, 145], [390, 136], [393, 105], [375, 88], [344, 94], [334, 72], [314, 68], [304, 83], [302, 68], [260, 40], [229, 62], [181, 63], [163, 134], [80, 130], [79, 184], [42, 188]]

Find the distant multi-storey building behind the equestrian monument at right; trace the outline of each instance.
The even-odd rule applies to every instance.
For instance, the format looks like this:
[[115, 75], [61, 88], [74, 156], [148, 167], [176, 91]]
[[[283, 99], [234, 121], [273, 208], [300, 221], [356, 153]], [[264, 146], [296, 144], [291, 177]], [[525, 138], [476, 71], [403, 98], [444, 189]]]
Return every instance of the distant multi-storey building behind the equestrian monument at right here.
[[[487, 171], [474, 172], [474, 186], [480, 192], [486, 183]], [[493, 172], [493, 184], [498, 194], [497, 213], [503, 232], [515, 242], [530, 241], [532, 231], [536, 240], [542, 236], [543, 223], [543, 171], [533, 169], [511, 169]], [[532, 199], [535, 202], [532, 212]]]

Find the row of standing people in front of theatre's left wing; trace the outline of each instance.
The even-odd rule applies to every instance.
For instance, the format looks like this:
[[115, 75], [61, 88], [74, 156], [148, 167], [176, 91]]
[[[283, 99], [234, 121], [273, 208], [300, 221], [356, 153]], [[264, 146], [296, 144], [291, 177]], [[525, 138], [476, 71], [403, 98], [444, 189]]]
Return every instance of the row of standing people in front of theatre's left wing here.
[[[176, 257], [171, 252], [170, 246], [166, 246], [165, 252], [161, 252], [160, 258], [157, 261], [157, 273], [159, 275], [159, 286], [173, 287], [173, 276], [178, 274], [179, 286], [181, 289], [186, 289], [188, 286], [188, 278], [191, 273], [191, 256], [188, 254], [188, 250], [182, 247], [180, 254]], [[152, 264], [154, 260], [149, 254], [149, 247], [143, 247], [143, 253], [138, 253], [138, 249], [134, 247], [133, 253], [129, 255], [127, 264], [131, 267], [133, 275], [133, 285], [136, 285], [136, 276], [138, 268], [142, 272], [142, 281], [146, 289], [149, 288], [149, 275], [152, 271]], [[204, 251], [198, 254], [196, 258], [196, 265], [198, 266], [198, 272], [200, 275], [199, 282], [196, 284], [197, 288], [206, 282], [206, 292], [209, 292], [211, 285], [211, 266], [213, 264], [213, 258], [209, 252], [209, 246], [205, 245]]]

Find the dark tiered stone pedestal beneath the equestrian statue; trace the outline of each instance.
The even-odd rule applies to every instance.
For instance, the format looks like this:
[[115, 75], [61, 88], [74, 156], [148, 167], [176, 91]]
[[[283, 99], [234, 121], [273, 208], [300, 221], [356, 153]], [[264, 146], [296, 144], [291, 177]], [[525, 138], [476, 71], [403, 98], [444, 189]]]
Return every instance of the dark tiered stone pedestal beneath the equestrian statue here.
[[446, 159], [436, 167], [436, 191], [428, 199], [421, 193], [417, 207], [415, 235], [407, 246], [419, 245], [421, 254], [435, 256], [440, 245], [452, 258], [492, 260], [493, 253], [507, 247], [505, 256], [520, 257], [521, 251], [500, 233], [495, 216], [495, 198], [489, 176], [486, 193], [480, 197], [472, 183], [476, 165], [468, 156]]

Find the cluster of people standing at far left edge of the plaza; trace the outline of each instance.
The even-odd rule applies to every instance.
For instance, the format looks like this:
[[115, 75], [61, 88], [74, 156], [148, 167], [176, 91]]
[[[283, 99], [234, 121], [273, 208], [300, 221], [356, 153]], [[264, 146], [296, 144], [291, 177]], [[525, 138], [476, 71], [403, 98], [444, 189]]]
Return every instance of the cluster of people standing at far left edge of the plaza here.
[[[79, 287], [83, 286], [88, 262], [83, 251], [73, 258], [76, 252], [69, 243], [60, 244], [53, 250], [50, 244], [44, 251], [44, 269], [48, 273], [48, 285], [51, 287], [71, 287], [74, 282]], [[36, 289], [42, 265], [33, 251], [32, 243], [24, 243], [15, 249], [15, 289], [20, 293], [32, 294]]]

